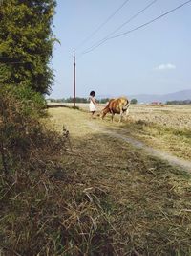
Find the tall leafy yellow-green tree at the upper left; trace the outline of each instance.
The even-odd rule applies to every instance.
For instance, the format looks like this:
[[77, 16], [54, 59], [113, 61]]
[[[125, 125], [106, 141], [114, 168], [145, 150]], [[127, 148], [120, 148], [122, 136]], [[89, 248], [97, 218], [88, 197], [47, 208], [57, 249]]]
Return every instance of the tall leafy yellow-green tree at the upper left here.
[[49, 93], [55, 0], [0, 2], [0, 83]]

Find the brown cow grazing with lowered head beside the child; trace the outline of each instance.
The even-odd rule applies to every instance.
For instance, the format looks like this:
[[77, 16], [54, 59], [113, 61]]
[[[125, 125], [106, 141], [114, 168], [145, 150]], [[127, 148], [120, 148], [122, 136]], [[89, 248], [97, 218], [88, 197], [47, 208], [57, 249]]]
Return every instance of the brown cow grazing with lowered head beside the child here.
[[101, 118], [103, 119], [107, 113], [112, 114], [112, 121], [115, 114], [120, 114], [119, 122], [122, 121], [124, 113], [126, 116], [129, 113], [130, 102], [126, 97], [119, 97], [117, 99], [109, 100], [108, 104], [103, 108]]

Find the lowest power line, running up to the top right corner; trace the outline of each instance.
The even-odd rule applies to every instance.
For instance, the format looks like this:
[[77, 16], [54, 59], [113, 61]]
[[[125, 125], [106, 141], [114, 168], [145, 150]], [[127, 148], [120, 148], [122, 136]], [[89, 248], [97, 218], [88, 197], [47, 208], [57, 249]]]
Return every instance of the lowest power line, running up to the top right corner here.
[[149, 24], [151, 24], [151, 23], [153, 23], [153, 22], [159, 20], [160, 18], [162, 18], [162, 17], [164, 17], [164, 16], [170, 14], [171, 12], [177, 11], [178, 9], [180, 9], [181, 7], [183, 7], [183, 6], [187, 5], [187, 4], [189, 4], [190, 2], [191, 2], [191, 0], [186, 1], [186, 2], [182, 3], [180, 6], [177, 6], [176, 8], [174, 8], [174, 9], [168, 11], [168, 12], [164, 12], [163, 14], [159, 15], [158, 17], [156, 17], [156, 18], [154, 18], [154, 19], [151, 19], [150, 21], [148, 21], [148, 22], [146, 22], [146, 23], [144, 23], [144, 24], [142, 24], [142, 25], [140, 25], [140, 26], [138, 26], [138, 27], [136, 27], [136, 28], [134, 28], [134, 29], [132, 29], [132, 30], [129, 30], [129, 31], [127, 31], [127, 32], [124, 32], [124, 33], [121, 33], [121, 34], [118, 34], [118, 35], [114, 35], [114, 36], [111, 36], [111, 37], [107, 37], [107, 39], [105, 39], [104, 41], [100, 42], [100, 43], [99, 43], [98, 45], [96, 45], [94, 48], [92, 48], [92, 49], [90, 49], [90, 50], [87, 50], [87, 51], [83, 52], [82, 54], [87, 54], [87, 53], [89, 53], [89, 52], [94, 51], [98, 46], [100, 46], [101, 44], [103, 44], [103, 43], [104, 43], [105, 41], [107, 41], [107, 40], [114, 39], [114, 38], [117, 38], [117, 37], [120, 37], [120, 36], [123, 36], [123, 35], [128, 35], [128, 34], [130, 34], [130, 33], [132, 33], [132, 32], [135, 32], [135, 31], [137, 31], [137, 30], [143, 28], [143, 27], [146, 27], [146, 26], [148, 26]]

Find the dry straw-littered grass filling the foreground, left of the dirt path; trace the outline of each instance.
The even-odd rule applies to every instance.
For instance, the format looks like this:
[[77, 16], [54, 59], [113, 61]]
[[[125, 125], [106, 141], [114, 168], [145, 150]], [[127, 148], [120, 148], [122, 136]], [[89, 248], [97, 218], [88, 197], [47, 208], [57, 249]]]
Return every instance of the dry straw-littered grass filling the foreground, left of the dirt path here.
[[90, 129], [85, 112], [50, 114], [73, 151], [50, 153], [52, 138], [17, 180], [1, 175], [2, 254], [190, 255], [190, 176]]

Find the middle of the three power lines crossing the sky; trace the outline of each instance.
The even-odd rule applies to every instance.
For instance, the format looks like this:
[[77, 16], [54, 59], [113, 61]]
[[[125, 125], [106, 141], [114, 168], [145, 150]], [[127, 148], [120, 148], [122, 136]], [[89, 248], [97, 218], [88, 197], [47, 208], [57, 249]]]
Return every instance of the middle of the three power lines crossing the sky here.
[[134, 14], [132, 17], [130, 17], [126, 22], [122, 23], [119, 27], [117, 27], [117, 29], [113, 32], [111, 32], [110, 34], [106, 35], [103, 39], [97, 41], [94, 45], [92, 45], [91, 47], [89, 47], [86, 51], [90, 51], [92, 50], [92, 48], [95, 48], [96, 46], [99, 46], [100, 44], [102, 44], [103, 42], [107, 41], [108, 37], [110, 35], [115, 34], [118, 30], [120, 30], [122, 27], [124, 27], [126, 24], [130, 23], [133, 19], [135, 19], [140, 13], [146, 11], [150, 6], [152, 6], [153, 4], [155, 4], [158, 0], [154, 0], [151, 3], [149, 3], [145, 8], [143, 8], [142, 10], [140, 10], [139, 12], [137, 12], [136, 14]]

